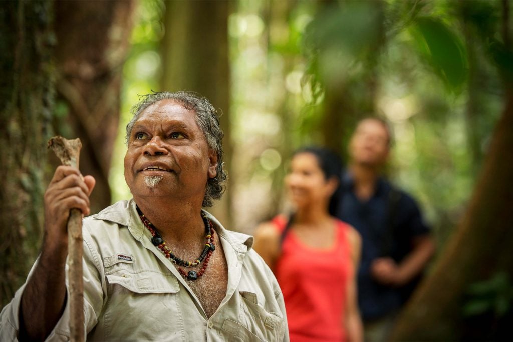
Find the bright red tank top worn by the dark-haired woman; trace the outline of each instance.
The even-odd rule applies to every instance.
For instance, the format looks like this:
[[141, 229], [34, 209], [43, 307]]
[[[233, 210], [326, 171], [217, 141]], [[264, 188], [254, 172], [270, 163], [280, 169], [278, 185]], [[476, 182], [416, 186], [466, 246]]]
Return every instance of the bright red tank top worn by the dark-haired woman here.
[[[283, 216], [272, 220], [280, 234]], [[353, 275], [347, 224], [337, 220], [330, 249], [305, 246], [294, 231], [286, 233], [275, 267], [287, 311], [291, 342], [345, 341], [347, 284]]]

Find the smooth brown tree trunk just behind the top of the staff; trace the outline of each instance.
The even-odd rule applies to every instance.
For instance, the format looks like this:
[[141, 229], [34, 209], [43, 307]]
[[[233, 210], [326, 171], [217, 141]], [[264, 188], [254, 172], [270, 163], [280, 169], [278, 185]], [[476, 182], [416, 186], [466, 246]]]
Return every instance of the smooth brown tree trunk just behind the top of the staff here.
[[54, 6], [56, 89], [68, 107], [67, 122], [56, 131], [82, 140], [81, 172], [96, 179], [94, 213], [111, 204], [108, 176], [135, 0], [57, 0]]

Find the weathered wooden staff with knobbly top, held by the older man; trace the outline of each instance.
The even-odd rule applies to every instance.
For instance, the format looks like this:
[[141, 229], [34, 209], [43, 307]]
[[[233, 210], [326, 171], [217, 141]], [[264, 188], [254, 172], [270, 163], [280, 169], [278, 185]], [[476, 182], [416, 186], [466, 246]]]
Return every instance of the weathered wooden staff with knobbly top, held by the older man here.
[[[48, 148], [61, 159], [63, 165], [78, 169], [78, 155], [82, 143], [79, 138], [68, 140], [54, 136], [48, 140]], [[68, 280], [70, 298], [71, 341], [84, 341], [84, 281], [82, 279], [82, 212], [71, 209], [68, 219]]]

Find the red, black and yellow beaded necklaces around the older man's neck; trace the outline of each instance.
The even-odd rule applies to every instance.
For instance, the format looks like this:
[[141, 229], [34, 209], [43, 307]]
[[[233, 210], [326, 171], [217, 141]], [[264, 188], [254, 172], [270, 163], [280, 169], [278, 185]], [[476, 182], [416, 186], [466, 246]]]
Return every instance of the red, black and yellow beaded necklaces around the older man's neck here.
[[[205, 273], [205, 270], [207, 269], [207, 266], [208, 266], [208, 261], [210, 260], [210, 256], [212, 255], [213, 251], [215, 250], [214, 227], [212, 225], [211, 220], [207, 217], [207, 215], [205, 215], [205, 213], [203, 213], [203, 212], [201, 213], [201, 217], [203, 218], [203, 222], [205, 223], [205, 231], [207, 232], [207, 235], [205, 236], [205, 238], [206, 238], [205, 248], [203, 248], [203, 251], [201, 252], [200, 257], [198, 259], [196, 259], [194, 262], [191, 262], [191, 261], [182, 260], [179, 257], [175, 256], [173, 254], [173, 252], [171, 252], [169, 247], [167, 247], [167, 243], [162, 238], [159, 231], [157, 231], [156, 227], [153, 226], [153, 224], [146, 218], [146, 216], [144, 216], [141, 209], [139, 209], [138, 206], [135, 206], [135, 209], [137, 209], [137, 213], [139, 214], [139, 217], [141, 217], [141, 220], [142, 220], [144, 226], [146, 228], [148, 228], [148, 230], [151, 233], [151, 236], [152, 236], [151, 243], [154, 246], [156, 246], [157, 248], [159, 248], [162, 251], [162, 253], [164, 253], [166, 258], [171, 259], [171, 263], [176, 265], [178, 272], [180, 272], [180, 274], [182, 276], [184, 276], [186, 280], [196, 280]], [[195, 267], [195, 266], [200, 265], [203, 262], [203, 260], [205, 260], [205, 262], [203, 263], [203, 267], [200, 270], [200, 272], [189, 271], [186, 273], [180, 267], [180, 266], [187, 267], [187, 268]]]

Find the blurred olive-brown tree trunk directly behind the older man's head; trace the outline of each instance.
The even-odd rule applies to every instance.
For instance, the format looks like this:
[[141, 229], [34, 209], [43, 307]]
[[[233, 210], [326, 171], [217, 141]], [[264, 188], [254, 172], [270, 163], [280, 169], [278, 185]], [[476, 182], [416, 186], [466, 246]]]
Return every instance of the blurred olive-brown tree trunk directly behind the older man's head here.
[[[207, 97], [222, 115], [225, 169], [230, 174], [232, 147], [229, 129], [230, 69], [228, 64], [228, 1], [165, 2], [162, 40], [162, 89], [192, 90]], [[233, 185], [231, 185], [233, 186]], [[229, 187], [212, 208], [231, 227]], [[233, 229], [233, 228], [232, 228]]]

